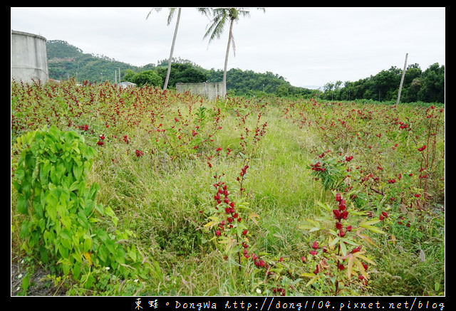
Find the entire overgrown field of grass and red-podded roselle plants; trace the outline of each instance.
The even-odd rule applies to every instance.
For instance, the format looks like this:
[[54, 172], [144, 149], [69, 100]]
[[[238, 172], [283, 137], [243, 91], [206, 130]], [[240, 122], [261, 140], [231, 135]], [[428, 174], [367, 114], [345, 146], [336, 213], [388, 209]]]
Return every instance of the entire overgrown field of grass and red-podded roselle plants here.
[[13, 82], [11, 176], [12, 295], [445, 295], [442, 105]]

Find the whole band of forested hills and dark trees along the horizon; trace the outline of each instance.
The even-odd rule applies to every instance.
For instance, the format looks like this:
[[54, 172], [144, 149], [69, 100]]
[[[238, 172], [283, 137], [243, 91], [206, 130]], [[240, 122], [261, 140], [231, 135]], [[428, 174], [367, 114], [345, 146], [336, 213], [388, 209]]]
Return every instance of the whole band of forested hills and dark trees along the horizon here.
[[[50, 78], [65, 80], [101, 82], [129, 80], [142, 85], [162, 86], [167, 71], [167, 60], [158, 60], [157, 65], [142, 67], [123, 63], [108, 56], [83, 53], [66, 41], [47, 42], [48, 68]], [[378, 100], [392, 101], [398, 96], [402, 69], [392, 66], [388, 70], [358, 81], [328, 82], [323, 90], [309, 90], [291, 85], [285, 77], [277, 74], [255, 73], [252, 70], [232, 68], [227, 72], [227, 90], [230, 95], [265, 95], [279, 97], [311, 97], [318, 95], [326, 100]], [[119, 78], [120, 74], [120, 78]], [[220, 82], [223, 70], [204, 69], [191, 60], [173, 60], [170, 88], [177, 82]], [[328, 77], [331, 80], [331, 77]], [[402, 102], [445, 102], [445, 66], [435, 63], [426, 70], [411, 64], [405, 72]]]

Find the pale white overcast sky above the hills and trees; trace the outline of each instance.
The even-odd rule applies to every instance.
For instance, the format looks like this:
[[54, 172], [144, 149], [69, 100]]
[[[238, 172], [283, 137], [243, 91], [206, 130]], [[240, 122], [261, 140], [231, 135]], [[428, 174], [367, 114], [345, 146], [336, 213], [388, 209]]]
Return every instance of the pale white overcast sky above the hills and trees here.
[[[175, 19], [167, 26], [168, 8], [63, 7], [11, 8], [11, 29], [62, 40], [132, 65], [167, 59]], [[445, 8], [279, 7], [250, 8], [234, 24], [236, 54], [229, 68], [281, 75], [291, 85], [323, 86], [357, 81], [418, 63], [445, 65]], [[227, 27], [209, 43], [203, 38], [209, 19], [195, 8], [182, 8], [174, 57], [205, 69], [223, 69]]]

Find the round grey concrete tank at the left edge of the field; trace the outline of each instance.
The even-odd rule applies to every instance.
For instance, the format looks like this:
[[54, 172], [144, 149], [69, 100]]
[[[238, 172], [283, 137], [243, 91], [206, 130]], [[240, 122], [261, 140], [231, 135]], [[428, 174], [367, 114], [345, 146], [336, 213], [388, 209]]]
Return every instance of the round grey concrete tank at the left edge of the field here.
[[48, 55], [46, 52], [46, 38], [11, 31], [11, 79], [25, 83], [41, 80], [46, 83], [48, 75]]

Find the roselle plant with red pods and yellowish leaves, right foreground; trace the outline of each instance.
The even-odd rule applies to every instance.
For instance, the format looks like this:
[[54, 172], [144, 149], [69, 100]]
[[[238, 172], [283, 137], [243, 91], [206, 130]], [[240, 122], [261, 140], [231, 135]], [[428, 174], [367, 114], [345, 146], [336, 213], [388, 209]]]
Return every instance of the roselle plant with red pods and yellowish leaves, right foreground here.
[[[300, 228], [309, 233], [319, 233], [319, 241], [314, 240], [311, 251], [303, 257], [306, 266], [311, 265], [311, 273], [301, 276], [310, 278], [306, 286], [330, 288], [328, 294], [339, 295], [342, 291], [353, 290], [353, 287], [363, 290], [369, 279], [368, 267], [375, 265], [367, 253], [368, 246], [376, 246], [373, 239], [365, 231], [386, 234], [374, 226], [381, 221], [381, 217], [388, 216], [384, 213], [380, 218], [369, 220], [364, 217], [358, 221], [359, 216], [367, 213], [351, 210], [348, 201], [341, 193], [335, 195], [334, 204], [318, 203], [323, 215], [318, 220], [307, 219]], [[353, 204], [352, 204], [353, 206]], [[353, 218], [353, 219], [352, 219]]]

